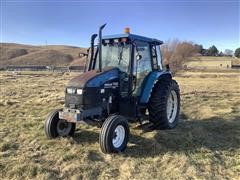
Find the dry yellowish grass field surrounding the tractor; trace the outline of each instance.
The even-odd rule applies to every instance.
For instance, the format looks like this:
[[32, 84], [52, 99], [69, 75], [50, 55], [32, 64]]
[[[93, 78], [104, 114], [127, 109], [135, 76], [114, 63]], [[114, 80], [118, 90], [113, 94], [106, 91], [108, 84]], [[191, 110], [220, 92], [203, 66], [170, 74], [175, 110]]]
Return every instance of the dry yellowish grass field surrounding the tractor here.
[[131, 124], [124, 153], [104, 155], [99, 129], [47, 140], [44, 120], [76, 74], [0, 72], [0, 179], [239, 179], [240, 73], [186, 73], [173, 130]]

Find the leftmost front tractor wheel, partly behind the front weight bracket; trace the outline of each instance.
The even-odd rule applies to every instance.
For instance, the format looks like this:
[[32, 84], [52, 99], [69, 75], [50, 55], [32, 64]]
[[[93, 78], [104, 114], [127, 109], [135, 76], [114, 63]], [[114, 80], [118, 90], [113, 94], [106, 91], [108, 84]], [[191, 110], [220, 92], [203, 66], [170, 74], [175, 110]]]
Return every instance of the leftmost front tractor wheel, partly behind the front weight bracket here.
[[59, 111], [60, 109], [50, 112], [45, 121], [45, 134], [49, 139], [58, 136], [73, 136], [74, 134], [76, 124], [59, 119]]

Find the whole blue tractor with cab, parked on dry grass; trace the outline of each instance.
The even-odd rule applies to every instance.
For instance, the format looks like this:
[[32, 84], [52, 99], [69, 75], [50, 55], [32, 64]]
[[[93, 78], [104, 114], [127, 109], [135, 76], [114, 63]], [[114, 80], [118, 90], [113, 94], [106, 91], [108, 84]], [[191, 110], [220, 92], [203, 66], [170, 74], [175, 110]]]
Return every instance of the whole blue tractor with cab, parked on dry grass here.
[[129, 121], [174, 128], [180, 93], [169, 68], [163, 67], [162, 41], [131, 34], [129, 28], [102, 37], [105, 25], [92, 35], [85, 72], [68, 82], [65, 106], [48, 115], [45, 133], [49, 139], [73, 136], [76, 123], [97, 125], [102, 152], [117, 153], [127, 147]]

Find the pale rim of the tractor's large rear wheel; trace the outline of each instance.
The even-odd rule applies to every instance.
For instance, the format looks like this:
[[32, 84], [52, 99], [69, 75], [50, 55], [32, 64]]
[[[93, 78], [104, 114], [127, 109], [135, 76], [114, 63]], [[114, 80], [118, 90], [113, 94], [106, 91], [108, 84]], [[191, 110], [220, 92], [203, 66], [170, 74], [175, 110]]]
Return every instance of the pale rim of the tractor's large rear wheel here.
[[173, 123], [176, 119], [178, 109], [177, 93], [172, 90], [167, 100], [167, 118], [169, 123]]

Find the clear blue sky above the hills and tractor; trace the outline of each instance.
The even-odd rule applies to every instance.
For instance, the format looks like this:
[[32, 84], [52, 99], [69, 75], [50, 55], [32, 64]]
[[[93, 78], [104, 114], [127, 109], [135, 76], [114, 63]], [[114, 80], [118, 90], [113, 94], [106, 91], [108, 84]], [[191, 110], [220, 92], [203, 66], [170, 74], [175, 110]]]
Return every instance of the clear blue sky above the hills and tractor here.
[[240, 47], [239, 0], [196, 1], [47, 1], [1, 0], [1, 42], [89, 46], [91, 34], [108, 23], [104, 34], [124, 27], [134, 34], [166, 41], [177, 38]]

